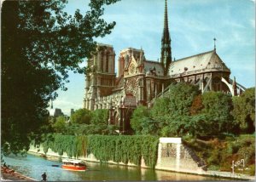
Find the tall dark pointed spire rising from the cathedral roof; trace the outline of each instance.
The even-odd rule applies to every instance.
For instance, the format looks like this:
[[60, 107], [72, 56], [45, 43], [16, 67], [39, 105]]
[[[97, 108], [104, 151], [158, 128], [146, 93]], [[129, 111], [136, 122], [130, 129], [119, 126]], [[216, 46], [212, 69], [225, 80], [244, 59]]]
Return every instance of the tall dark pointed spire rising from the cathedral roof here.
[[164, 68], [164, 75], [166, 76], [168, 74], [169, 67], [172, 62], [171, 37], [169, 34], [169, 27], [168, 27], [167, 2], [165, 6], [165, 20], [164, 20], [164, 30], [163, 30], [162, 41], [161, 41], [160, 62]]

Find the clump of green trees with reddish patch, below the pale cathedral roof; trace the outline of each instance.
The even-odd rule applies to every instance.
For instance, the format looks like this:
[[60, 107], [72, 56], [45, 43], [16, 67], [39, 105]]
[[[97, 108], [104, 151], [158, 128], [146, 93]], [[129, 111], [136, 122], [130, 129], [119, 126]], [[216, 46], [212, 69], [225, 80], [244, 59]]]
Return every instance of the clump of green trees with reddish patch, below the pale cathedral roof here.
[[[253, 107], [249, 108], [250, 116], [253, 116]], [[220, 92], [201, 94], [196, 86], [179, 82], [172, 85], [169, 94], [155, 100], [149, 118], [156, 122], [156, 133], [161, 136], [192, 134], [212, 137], [237, 134], [238, 127], [231, 115], [232, 110], [230, 95]]]

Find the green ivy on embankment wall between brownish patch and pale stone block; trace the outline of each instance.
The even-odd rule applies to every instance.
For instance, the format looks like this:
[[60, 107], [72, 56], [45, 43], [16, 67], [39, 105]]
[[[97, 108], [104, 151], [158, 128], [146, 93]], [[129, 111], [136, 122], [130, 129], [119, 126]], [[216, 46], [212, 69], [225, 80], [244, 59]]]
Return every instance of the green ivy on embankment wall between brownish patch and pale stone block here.
[[102, 162], [128, 162], [140, 165], [142, 157], [154, 168], [159, 138], [153, 136], [89, 136], [89, 149]]

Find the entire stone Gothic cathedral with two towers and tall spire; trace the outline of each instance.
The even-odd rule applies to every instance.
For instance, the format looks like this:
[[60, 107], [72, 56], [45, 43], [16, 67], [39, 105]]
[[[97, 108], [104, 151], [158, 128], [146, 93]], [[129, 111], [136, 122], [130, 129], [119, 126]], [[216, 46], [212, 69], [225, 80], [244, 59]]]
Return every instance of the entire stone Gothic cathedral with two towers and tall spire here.
[[150, 108], [172, 82], [198, 85], [202, 93], [212, 90], [236, 95], [245, 89], [230, 79], [230, 69], [219, 58], [215, 45], [206, 53], [172, 60], [167, 4], [160, 61], [147, 60], [142, 48], [125, 48], [119, 54], [116, 75], [113, 46], [98, 43], [88, 66], [91, 71], [85, 78], [84, 108], [108, 109], [108, 124], [119, 126], [121, 132], [130, 129], [131, 113], [137, 105]]

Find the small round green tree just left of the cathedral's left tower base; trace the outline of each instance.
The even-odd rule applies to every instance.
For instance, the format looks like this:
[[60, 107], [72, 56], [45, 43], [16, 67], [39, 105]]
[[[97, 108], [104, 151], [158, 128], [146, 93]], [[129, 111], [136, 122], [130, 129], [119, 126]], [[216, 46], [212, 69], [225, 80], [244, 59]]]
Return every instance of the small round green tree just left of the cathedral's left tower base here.
[[79, 124], [90, 124], [92, 113], [87, 109], [79, 109], [71, 116], [71, 122]]

